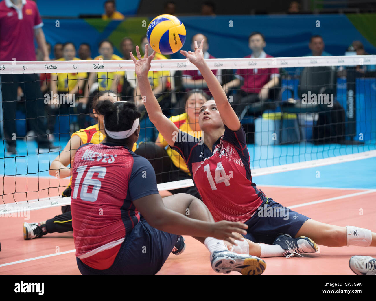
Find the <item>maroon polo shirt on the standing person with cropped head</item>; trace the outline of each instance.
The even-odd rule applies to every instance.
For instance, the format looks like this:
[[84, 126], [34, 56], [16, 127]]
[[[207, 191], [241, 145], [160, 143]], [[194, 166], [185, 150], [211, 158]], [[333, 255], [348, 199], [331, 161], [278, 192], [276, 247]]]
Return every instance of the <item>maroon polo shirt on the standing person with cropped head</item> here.
[[10, 0], [0, 2], [0, 61], [35, 61], [34, 29], [42, 27], [34, 1], [22, 0], [18, 9]]

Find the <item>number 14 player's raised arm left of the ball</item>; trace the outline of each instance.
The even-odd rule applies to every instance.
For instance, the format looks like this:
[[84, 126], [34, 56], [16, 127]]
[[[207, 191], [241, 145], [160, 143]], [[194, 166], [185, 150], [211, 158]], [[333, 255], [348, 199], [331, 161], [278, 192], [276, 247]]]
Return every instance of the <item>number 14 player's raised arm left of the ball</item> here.
[[149, 115], [149, 119], [162, 134], [168, 144], [170, 144], [170, 146], [174, 146], [175, 141], [173, 137], [176, 137], [176, 133], [179, 132], [179, 129], [170, 119], [163, 115], [158, 100], [155, 98], [152, 87], [150, 86], [147, 73], [150, 70], [150, 62], [154, 58], [155, 51], [152, 53], [152, 55], [149, 55], [149, 57], [147, 57], [148, 46], [149, 45], [145, 46], [144, 58], [141, 58], [138, 46], [136, 46], [136, 54], [138, 60], [133, 56], [132, 52], [129, 52], [129, 54], [133, 59], [133, 62], [135, 63], [138, 87], [142, 97], [142, 102]]

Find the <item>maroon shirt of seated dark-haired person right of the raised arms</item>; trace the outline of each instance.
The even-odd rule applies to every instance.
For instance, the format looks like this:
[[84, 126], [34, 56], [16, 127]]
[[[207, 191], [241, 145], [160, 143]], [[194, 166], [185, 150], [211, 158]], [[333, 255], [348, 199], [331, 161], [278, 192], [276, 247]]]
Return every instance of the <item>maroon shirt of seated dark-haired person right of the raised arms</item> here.
[[[247, 55], [244, 58], [253, 58], [252, 55]], [[273, 56], [262, 53], [260, 58], [273, 58]], [[273, 76], [279, 76], [278, 68], [255, 68], [255, 69], [239, 69], [236, 71], [238, 75], [243, 77], [244, 83], [240, 87], [241, 90], [247, 93], [259, 93], [261, 88], [269, 82]]]

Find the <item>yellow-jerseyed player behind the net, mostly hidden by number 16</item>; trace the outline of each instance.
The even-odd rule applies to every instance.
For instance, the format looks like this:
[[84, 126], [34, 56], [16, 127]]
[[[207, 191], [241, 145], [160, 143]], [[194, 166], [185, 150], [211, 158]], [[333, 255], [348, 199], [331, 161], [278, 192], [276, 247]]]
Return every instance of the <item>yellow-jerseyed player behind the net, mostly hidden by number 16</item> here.
[[[103, 100], [110, 100], [111, 102], [117, 102], [118, 99], [116, 93], [111, 91], [100, 92], [94, 97], [92, 102], [93, 113], [98, 123], [93, 126], [89, 126], [86, 129], [80, 129], [74, 132], [65, 146], [64, 150], [52, 161], [50, 166], [50, 175], [56, 176], [56, 178], [66, 178], [71, 176], [71, 170], [68, 165], [72, 166], [74, 155], [77, 149], [85, 143], [99, 144], [106, 138], [105, 127], [103, 125], [103, 115], [97, 114], [95, 107]], [[134, 149], [135, 150], [135, 147]], [[71, 183], [70, 183], [71, 184]], [[71, 195], [70, 185], [62, 193], [63, 197]], [[62, 214], [39, 223], [24, 223], [23, 233], [24, 239], [33, 239], [42, 237], [47, 233], [54, 232], [67, 232], [73, 231], [72, 229], [72, 216], [70, 212], [70, 205], [61, 207]]]

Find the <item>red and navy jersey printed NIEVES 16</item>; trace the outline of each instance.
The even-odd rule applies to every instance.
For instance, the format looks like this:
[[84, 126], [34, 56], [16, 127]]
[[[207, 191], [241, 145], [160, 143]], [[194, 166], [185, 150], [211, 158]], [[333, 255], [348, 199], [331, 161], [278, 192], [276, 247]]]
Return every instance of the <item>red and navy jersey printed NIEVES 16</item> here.
[[71, 187], [76, 256], [107, 269], [140, 220], [133, 200], [159, 193], [153, 167], [124, 146], [87, 143], [74, 156]]

